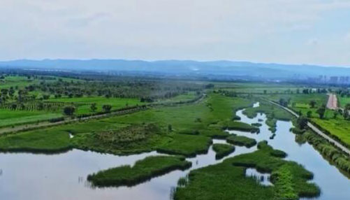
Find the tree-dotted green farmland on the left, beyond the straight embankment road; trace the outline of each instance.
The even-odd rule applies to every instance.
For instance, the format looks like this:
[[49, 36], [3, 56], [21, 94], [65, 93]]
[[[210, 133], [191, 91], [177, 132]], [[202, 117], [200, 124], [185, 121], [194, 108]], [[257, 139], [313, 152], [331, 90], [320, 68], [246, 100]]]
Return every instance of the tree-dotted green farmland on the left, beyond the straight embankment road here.
[[[49, 121], [61, 117], [64, 108], [74, 106], [75, 112], [66, 115], [91, 115], [120, 108], [142, 106], [152, 102], [185, 102], [202, 97], [203, 85], [169, 80], [148, 80], [147, 78], [99, 79], [99, 76], [38, 76], [35, 72], [22, 71], [18, 76], [1, 74], [0, 110], [1, 117], [12, 117], [2, 121], [0, 127], [17, 124]], [[66, 76], [66, 75], [64, 75]], [[92, 106], [94, 105], [94, 106]], [[105, 109], [105, 105], [110, 108]], [[11, 115], [22, 111], [24, 117]], [[32, 113], [30, 113], [32, 112]], [[38, 117], [40, 112], [43, 116]], [[32, 115], [31, 115], [32, 114]]]

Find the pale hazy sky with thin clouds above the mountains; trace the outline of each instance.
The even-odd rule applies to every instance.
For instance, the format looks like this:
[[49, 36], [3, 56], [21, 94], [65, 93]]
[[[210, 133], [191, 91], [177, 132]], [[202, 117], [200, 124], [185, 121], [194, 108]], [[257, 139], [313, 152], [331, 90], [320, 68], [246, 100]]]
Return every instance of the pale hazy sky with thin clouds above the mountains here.
[[350, 66], [349, 0], [0, 0], [0, 59]]

